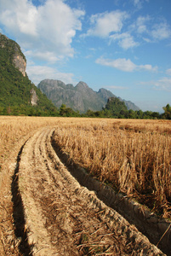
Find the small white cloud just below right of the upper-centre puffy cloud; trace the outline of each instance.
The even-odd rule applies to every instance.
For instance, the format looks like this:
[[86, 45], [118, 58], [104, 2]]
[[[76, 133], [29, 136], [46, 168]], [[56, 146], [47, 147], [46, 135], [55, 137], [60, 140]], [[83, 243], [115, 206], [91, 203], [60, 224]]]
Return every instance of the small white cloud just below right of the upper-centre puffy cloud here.
[[116, 33], [112, 35], [110, 38], [112, 41], [118, 40], [118, 44], [123, 49], [129, 49], [139, 45], [139, 43], [134, 42], [134, 38], [128, 32], [124, 32], [121, 34]]

